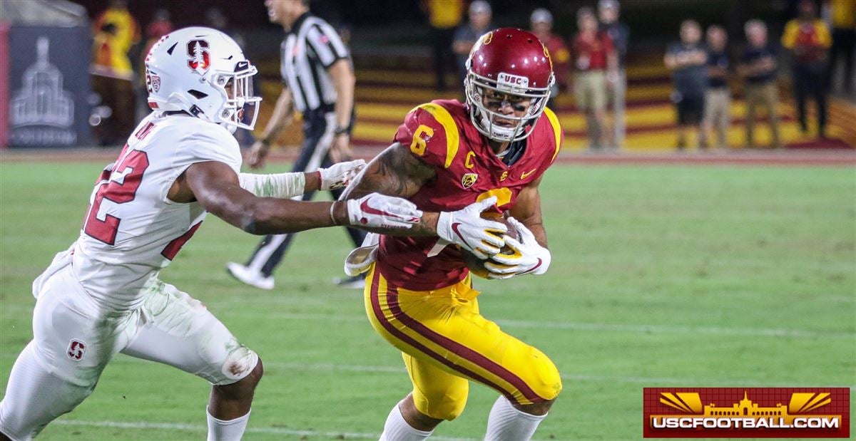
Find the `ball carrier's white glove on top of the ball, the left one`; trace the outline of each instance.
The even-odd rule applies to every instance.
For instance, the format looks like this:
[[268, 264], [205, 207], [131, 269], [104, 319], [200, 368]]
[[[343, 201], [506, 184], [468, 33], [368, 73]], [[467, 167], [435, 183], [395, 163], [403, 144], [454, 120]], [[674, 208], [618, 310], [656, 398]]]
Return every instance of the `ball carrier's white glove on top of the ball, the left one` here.
[[495, 255], [505, 244], [501, 235], [508, 232], [508, 227], [481, 218], [481, 212], [495, 203], [496, 197], [488, 197], [458, 211], [440, 212], [437, 219], [437, 236], [461, 246], [481, 260]]

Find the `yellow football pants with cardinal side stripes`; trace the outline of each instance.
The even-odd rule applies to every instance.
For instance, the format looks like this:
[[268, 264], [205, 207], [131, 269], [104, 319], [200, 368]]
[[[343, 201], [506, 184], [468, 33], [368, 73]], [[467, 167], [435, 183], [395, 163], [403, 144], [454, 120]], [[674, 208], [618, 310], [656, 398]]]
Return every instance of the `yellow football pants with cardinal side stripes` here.
[[388, 285], [372, 268], [366, 282], [366, 313], [375, 331], [401, 350], [419, 412], [454, 420], [467, 403], [467, 380], [520, 404], [543, 403], [562, 391], [550, 358], [479, 314], [479, 291], [469, 277], [409, 291]]

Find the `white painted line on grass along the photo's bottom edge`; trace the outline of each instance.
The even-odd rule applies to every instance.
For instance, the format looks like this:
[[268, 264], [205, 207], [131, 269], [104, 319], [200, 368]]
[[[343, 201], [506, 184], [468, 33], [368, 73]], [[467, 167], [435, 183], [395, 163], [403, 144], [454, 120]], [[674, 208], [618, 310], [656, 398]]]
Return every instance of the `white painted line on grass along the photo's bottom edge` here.
[[[160, 430], [186, 430], [193, 432], [207, 432], [208, 427], [197, 424], [180, 424], [168, 422], [148, 421], [87, 421], [87, 420], [56, 420], [51, 424], [61, 426], [91, 426], [91, 427], [116, 427], [121, 429], [160, 429]], [[247, 433], [263, 433], [268, 435], [292, 435], [296, 437], [327, 437], [335, 439], [377, 439], [380, 434], [360, 432], [318, 432], [314, 430], [283, 429], [280, 427], [253, 427], [247, 426]], [[296, 438], [299, 439], [299, 438]], [[443, 436], [432, 436], [431, 439], [441, 441], [478, 441], [476, 438], [454, 438]]]

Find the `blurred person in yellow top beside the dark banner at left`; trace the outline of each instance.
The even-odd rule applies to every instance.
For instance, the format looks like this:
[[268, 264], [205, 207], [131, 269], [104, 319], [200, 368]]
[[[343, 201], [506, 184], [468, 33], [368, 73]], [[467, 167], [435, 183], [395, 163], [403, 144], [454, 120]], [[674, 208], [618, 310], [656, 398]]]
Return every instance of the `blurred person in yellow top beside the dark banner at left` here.
[[128, 52], [140, 42], [140, 26], [124, 0], [111, 0], [94, 25], [92, 45], [92, 89], [110, 117], [95, 126], [98, 144], [125, 142], [134, 129], [134, 68]]

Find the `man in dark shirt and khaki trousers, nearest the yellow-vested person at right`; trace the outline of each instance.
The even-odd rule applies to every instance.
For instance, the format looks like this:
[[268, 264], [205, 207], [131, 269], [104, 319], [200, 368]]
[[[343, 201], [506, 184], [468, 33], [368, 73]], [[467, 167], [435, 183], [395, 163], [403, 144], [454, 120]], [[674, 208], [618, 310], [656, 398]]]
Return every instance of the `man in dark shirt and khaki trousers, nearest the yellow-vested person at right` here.
[[746, 147], [755, 147], [755, 118], [758, 106], [767, 110], [774, 148], [782, 147], [779, 138], [779, 90], [776, 87], [776, 47], [767, 42], [764, 21], [746, 21], [746, 50], [740, 59], [738, 73], [743, 77], [746, 100]]

